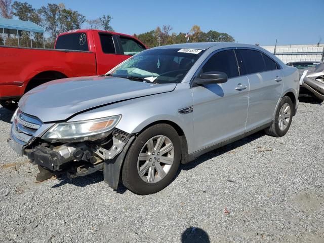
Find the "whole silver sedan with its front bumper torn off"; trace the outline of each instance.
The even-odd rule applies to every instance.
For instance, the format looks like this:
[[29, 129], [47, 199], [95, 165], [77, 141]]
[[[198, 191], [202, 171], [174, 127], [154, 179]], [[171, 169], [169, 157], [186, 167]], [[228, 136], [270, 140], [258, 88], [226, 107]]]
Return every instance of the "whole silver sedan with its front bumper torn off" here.
[[172, 182], [180, 163], [260, 130], [284, 136], [298, 93], [297, 69], [260, 47], [152, 48], [103, 76], [29, 91], [8, 142], [38, 165], [37, 180], [103, 171], [113, 189], [120, 180], [150, 194]]

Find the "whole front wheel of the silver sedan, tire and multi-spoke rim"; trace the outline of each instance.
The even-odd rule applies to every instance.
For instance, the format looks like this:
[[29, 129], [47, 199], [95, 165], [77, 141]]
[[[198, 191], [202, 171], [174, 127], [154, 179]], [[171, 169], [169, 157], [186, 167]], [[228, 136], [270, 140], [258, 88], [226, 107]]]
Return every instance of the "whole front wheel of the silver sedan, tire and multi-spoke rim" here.
[[170, 125], [157, 124], [135, 139], [126, 155], [121, 179], [137, 194], [152, 194], [172, 182], [180, 160], [178, 133]]

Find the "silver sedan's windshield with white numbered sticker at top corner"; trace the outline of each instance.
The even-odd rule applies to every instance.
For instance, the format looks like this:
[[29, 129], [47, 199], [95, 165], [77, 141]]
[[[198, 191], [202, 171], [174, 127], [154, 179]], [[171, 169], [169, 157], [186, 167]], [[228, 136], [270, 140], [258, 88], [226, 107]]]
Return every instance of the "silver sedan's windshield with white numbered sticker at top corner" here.
[[107, 75], [154, 84], [181, 83], [203, 54], [197, 49], [151, 49], [121, 63]]

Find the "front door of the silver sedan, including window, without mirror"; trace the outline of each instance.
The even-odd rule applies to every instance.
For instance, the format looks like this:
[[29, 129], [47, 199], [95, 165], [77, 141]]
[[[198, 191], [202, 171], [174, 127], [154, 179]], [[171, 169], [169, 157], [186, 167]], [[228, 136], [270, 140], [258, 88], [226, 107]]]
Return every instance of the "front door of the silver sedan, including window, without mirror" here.
[[245, 133], [249, 80], [239, 76], [234, 50], [216, 52], [198, 73], [210, 71], [225, 72], [228, 80], [223, 84], [191, 88], [195, 151]]

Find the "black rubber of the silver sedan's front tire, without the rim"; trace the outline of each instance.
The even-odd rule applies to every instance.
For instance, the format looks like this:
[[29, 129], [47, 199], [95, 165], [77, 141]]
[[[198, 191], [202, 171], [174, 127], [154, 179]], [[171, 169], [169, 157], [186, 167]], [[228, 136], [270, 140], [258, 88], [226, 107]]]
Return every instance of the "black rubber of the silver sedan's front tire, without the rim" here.
[[[148, 140], [154, 136], [163, 135], [168, 137], [174, 147], [173, 164], [167, 175], [156, 183], [148, 183], [141, 179], [137, 169], [138, 156]], [[181, 160], [181, 142], [177, 131], [170, 125], [157, 124], [143, 131], [133, 142], [129, 151], [127, 152], [121, 180], [124, 186], [129, 190], [140, 194], [147, 195], [158, 192], [168, 186], [174, 179], [175, 174], [179, 168]]]

